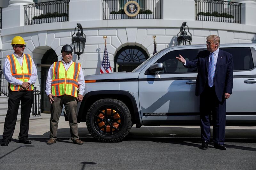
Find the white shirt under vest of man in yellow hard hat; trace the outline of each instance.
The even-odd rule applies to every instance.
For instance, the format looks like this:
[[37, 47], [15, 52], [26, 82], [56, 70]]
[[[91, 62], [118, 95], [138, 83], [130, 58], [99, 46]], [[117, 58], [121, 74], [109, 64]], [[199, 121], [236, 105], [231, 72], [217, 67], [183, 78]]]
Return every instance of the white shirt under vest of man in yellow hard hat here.
[[[22, 62], [23, 62], [23, 56], [24, 54], [22, 54], [21, 57], [19, 57], [17, 54], [15, 54], [15, 52], [13, 53], [14, 56], [17, 58], [17, 60], [19, 61], [20, 63], [20, 66], [22, 67]], [[32, 59], [32, 58], [31, 58]], [[15, 77], [12, 76], [12, 73], [11, 73], [11, 64], [10, 64], [10, 61], [9, 59], [6, 57], [5, 58], [5, 61], [4, 61], [4, 76], [5, 76], [5, 79], [13, 84], [13, 85], [22, 85], [23, 81], [19, 80], [19, 79], [16, 79]], [[37, 79], [37, 70], [36, 70], [36, 65], [32, 59], [32, 70], [31, 70], [31, 76], [28, 80], [29, 84], [35, 84], [36, 82], [36, 79]]]

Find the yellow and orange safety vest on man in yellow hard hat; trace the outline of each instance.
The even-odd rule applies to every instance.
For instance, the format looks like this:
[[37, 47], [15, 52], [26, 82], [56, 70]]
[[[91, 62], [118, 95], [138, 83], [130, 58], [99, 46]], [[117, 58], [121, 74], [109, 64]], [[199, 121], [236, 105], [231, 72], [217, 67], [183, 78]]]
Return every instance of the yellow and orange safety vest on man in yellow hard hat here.
[[[32, 58], [30, 55], [23, 55], [22, 66], [20, 66], [20, 63], [14, 54], [7, 55], [6, 57], [10, 61], [12, 77], [20, 81], [27, 82], [31, 77], [32, 71]], [[19, 91], [20, 89], [20, 85], [13, 85], [11, 83], [9, 83], [9, 87], [12, 91]], [[34, 90], [34, 85], [31, 84], [27, 90]]]

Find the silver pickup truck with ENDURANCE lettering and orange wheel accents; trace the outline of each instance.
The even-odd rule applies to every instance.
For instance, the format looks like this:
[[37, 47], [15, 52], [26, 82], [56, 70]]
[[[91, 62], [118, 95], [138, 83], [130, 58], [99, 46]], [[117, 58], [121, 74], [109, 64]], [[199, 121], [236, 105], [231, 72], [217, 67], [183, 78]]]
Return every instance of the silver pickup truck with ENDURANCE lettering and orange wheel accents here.
[[[227, 100], [227, 126], [256, 126], [256, 44], [221, 44], [233, 55], [233, 93]], [[133, 124], [200, 125], [195, 96], [197, 67], [185, 68], [175, 58], [192, 60], [205, 45], [174, 46], [159, 51], [131, 73], [85, 76], [78, 122], [102, 142], [118, 142]]]

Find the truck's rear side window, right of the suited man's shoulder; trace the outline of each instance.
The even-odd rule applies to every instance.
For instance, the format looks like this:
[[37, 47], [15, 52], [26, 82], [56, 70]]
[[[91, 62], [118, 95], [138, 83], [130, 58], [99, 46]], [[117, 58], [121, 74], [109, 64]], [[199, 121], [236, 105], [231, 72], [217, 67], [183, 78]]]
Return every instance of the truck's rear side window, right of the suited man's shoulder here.
[[236, 48], [220, 48], [233, 55], [234, 70], [250, 70], [254, 67], [252, 61], [253, 48], [250, 47], [236, 47]]

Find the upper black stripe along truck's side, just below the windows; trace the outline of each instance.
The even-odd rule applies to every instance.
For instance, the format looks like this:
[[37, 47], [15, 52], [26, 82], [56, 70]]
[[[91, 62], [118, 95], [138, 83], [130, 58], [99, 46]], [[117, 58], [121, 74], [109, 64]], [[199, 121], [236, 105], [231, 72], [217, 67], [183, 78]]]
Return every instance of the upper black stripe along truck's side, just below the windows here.
[[[256, 78], [256, 75], [235, 75], [234, 79], [238, 78]], [[196, 77], [172, 77], [172, 78], [145, 78], [145, 79], [101, 79], [96, 82], [128, 82], [128, 81], [171, 81], [171, 80], [196, 80]]]

